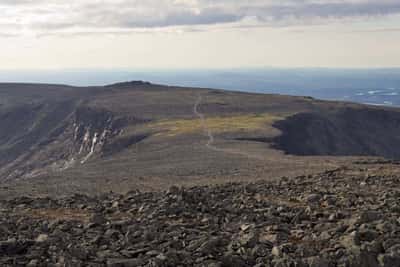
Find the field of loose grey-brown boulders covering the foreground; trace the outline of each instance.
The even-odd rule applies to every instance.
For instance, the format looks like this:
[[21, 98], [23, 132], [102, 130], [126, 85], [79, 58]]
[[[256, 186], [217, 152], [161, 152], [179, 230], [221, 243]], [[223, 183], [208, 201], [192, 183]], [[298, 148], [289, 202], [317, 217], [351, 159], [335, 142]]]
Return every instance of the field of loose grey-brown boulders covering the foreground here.
[[399, 177], [0, 204], [0, 266], [400, 266]]

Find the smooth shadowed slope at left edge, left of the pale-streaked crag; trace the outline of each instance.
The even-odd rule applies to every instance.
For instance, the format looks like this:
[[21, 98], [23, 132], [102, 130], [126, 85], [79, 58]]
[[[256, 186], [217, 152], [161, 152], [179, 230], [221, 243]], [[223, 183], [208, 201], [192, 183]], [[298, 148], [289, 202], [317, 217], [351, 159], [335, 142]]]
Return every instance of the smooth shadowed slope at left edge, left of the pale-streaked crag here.
[[[38, 155], [66, 129], [73, 102], [12, 106], [0, 111], [0, 175], [2, 179], [23, 175], [31, 163], [42, 166]], [[39, 160], [39, 161], [38, 161]]]

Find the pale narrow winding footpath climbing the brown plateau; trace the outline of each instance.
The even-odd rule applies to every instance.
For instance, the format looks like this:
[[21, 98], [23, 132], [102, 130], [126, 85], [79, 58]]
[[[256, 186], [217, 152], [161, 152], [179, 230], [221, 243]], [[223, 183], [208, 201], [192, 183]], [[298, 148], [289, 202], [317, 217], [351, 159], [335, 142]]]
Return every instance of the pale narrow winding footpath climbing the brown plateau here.
[[193, 106], [193, 113], [200, 119], [200, 123], [204, 130], [204, 133], [208, 137], [208, 140], [206, 143], [206, 147], [208, 149], [213, 150], [213, 151], [218, 151], [218, 152], [240, 155], [240, 156], [244, 156], [249, 159], [251, 158], [251, 159], [257, 159], [257, 160], [264, 160], [264, 157], [261, 157], [259, 155], [250, 154], [245, 151], [235, 150], [235, 149], [227, 149], [227, 148], [218, 148], [217, 146], [215, 146], [214, 145], [215, 138], [214, 138], [214, 135], [213, 135], [211, 129], [207, 126], [206, 117], [203, 113], [201, 113], [199, 111], [199, 106], [200, 106], [202, 100], [203, 100], [203, 96], [201, 94], [199, 94], [199, 97], [197, 98], [197, 100]]

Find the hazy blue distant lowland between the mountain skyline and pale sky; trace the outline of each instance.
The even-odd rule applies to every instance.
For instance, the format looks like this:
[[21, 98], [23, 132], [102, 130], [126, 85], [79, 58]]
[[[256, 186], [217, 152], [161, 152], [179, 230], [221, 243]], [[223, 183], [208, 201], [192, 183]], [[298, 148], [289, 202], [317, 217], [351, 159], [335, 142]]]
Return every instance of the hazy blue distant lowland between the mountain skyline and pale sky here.
[[143, 80], [189, 87], [278, 93], [400, 106], [400, 68], [255, 68], [202, 70], [1, 71], [0, 82], [61, 83], [78, 86]]

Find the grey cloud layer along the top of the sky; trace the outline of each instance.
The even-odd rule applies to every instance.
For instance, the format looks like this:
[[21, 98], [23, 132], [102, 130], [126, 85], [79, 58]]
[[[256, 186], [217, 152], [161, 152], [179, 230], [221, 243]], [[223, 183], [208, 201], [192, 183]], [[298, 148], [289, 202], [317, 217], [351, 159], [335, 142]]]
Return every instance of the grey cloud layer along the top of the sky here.
[[0, 0], [1, 35], [309, 21], [400, 13], [399, 0]]

